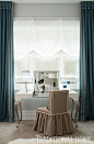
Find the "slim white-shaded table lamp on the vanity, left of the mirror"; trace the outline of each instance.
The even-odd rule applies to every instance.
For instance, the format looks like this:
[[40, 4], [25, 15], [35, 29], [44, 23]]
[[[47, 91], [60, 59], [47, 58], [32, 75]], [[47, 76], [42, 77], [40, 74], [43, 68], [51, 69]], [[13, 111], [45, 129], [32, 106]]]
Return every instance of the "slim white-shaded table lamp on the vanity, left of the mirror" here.
[[25, 81], [25, 88], [26, 88], [26, 92], [27, 92], [27, 81], [31, 80], [31, 75], [30, 75], [28, 70], [22, 71], [22, 79]]

